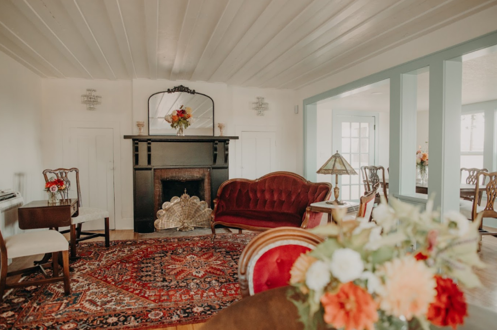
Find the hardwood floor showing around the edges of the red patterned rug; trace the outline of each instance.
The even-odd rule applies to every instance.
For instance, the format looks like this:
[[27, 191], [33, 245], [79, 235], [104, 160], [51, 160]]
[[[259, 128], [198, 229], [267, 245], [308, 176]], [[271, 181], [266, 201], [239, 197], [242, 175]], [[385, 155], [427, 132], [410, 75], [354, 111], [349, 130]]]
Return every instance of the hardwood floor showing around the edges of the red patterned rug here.
[[[209, 230], [210, 232], [210, 230]], [[203, 235], [204, 232], [189, 232], [187, 235]], [[146, 239], [153, 237], [163, 237], [163, 233], [152, 234], [137, 234], [132, 230], [116, 230], [110, 232], [110, 239], [115, 240], [130, 240], [130, 239]], [[172, 235], [171, 235], [172, 236]], [[175, 235], [174, 235], [175, 236]], [[103, 241], [102, 237], [95, 238], [92, 241]], [[483, 237], [482, 250], [480, 257], [487, 264], [485, 269], [477, 270], [483, 286], [470, 290], [464, 290], [468, 303], [484, 306], [497, 312], [497, 238], [491, 236]], [[9, 266], [9, 270], [15, 270], [32, 265], [33, 260], [40, 259], [41, 255], [17, 258], [14, 259]], [[10, 278], [9, 282], [18, 280], [18, 278]], [[158, 328], [154, 330], [200, 330], [203, 323], [190, 324], [176, 327]]]

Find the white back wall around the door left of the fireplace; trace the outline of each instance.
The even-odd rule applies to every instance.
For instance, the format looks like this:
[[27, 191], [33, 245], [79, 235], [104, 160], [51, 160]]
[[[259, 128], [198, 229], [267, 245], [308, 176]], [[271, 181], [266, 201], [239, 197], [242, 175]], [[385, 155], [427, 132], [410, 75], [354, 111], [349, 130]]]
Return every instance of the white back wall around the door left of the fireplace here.
[[[102, 104], [95, 111], [86, 110], [81, 95], [95, 88]], [[72, 167], [64, 159], [64, 127], [113, 128], [118, 137], [114, 144], [115, 228], [133, 228], [133, 167], [131, 140], [123, 135], [132, 129], [132, 83], [76, 79], [43, 79], [43, 168]], [[75, 126], [76, 125], [76, 126]], [[82, 125], [82, 126], [79, 126]], [[66, 140], [67, 141], [67, 140]], [[115, 141], [116, 142], [116, 141]], [[41, 170], [40, 170], [41, 174]], [[83, 201], [84, 205], [84, 201]]]

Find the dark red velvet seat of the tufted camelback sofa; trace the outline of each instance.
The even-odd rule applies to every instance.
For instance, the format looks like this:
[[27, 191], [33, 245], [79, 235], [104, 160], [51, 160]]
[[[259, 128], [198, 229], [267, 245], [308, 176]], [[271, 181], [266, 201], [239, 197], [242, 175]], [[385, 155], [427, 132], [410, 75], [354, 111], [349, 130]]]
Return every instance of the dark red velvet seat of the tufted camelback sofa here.
[[249, 226], [262, 228], [300, 227], [302, 216], [288, 212], [265, 210], [230, 210], [216, 214], [214, 221], [224, 222], [234, 227]]

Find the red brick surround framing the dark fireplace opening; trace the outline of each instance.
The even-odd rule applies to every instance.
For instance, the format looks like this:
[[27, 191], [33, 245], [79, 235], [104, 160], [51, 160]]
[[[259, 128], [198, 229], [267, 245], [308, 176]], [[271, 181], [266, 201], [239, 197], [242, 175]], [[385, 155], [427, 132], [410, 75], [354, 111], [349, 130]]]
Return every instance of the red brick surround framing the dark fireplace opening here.
[[[211, 205], [211, 171], [209, 167], [193, 167], [193, 168], [154, 168], [154, 214], [157, 214], [164, 202], [163, 198], [163, 181], [193, 181], [200, 180], [201, 200]], [[188, 193], [188, 191], [187, 191]], [[179, 194], [178, 197], [180, 197]], [[191, 193], [189, 193], [192, 196]], [[203, 196], [202, 196], [203, 195]]]

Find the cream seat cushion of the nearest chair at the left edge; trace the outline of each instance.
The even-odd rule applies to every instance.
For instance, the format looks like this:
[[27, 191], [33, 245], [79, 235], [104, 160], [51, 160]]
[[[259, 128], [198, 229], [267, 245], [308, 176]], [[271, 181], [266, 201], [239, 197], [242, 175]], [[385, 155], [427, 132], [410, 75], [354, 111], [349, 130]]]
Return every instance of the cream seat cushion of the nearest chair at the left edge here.
[[69, 249], [69, 243], [58, 231], [44, 230], [22, 233], [5, 239], [8, 258], [50, 253]]

